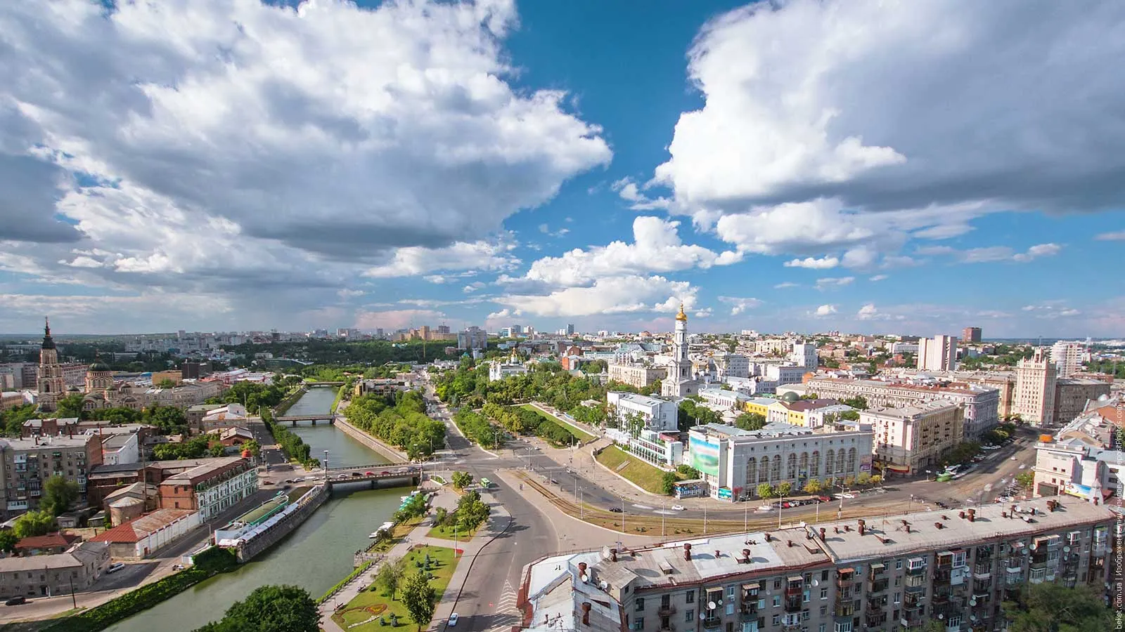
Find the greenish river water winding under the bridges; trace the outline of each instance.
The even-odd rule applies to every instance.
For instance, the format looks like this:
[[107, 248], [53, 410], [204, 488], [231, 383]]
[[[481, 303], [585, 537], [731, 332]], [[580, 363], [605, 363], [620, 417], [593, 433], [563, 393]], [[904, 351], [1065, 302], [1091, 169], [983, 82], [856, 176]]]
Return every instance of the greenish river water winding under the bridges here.
[[[309, 389], [288, 413], [310, 415], [326, 412], [335, 389]], [[328, 424], [302, 425], [294, 430], [312, 448], [313, 457], [330, 467], [386, 462]], [[266, 584], [300, 586], [320, 597], [352, 569], [353, 553], [367, 547], [367, 535], [390, 520], [403, 489], [360, 490], [335, 494], [288, 538], [234, 572], [225, 572], [110, 626], [110, 632], [190, 632], [208, 621], [222, 619], [234, 602]]]

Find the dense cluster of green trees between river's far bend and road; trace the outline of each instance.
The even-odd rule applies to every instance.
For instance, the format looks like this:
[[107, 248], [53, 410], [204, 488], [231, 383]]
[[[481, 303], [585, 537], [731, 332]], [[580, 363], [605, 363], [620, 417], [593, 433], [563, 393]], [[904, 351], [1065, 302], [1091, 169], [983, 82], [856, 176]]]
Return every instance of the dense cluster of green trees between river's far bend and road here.
[[446, 424], [426, 416], [425, 399], [418, 391], [357, 397], [344, 409], [344, 417], [351, 425], [406, 452], [411, 460], [429, 457], [446, 445]]

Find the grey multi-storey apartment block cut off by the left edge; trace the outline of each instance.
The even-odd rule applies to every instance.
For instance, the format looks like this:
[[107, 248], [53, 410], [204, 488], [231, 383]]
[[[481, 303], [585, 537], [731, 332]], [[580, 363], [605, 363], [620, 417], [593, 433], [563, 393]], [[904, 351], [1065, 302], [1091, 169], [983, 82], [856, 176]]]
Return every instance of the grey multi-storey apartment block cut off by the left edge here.
[[0, 439], [0, 493], [7, 518], [37, 509], [43, 484], [55, 475], [78, 484], [79, 498], [86, 500], [87, 475], [101, 463], [101, 441], [94, 434]]

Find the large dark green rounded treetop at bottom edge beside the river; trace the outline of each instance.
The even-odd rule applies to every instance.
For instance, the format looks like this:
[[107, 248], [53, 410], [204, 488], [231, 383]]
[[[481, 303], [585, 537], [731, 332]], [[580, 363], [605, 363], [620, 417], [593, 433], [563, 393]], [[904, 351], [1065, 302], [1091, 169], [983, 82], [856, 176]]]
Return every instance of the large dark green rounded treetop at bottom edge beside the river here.
[[297, 586], [261, 586], [235, 602], [220, 621], [197, 632], [318, 632], [321, 614], [308, 592]]

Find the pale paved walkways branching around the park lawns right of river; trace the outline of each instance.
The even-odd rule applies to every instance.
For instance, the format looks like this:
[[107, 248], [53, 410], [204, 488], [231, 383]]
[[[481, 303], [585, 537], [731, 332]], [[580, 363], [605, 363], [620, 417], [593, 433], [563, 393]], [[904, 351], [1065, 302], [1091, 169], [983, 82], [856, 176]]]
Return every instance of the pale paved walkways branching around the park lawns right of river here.
[[[452, 509], [457, 506], [457, 495], [453, 493], [442, 491], [434, 498], [433, 506]], [[469, 571], [472, 568], [472, 562], [480, 553], [480, 550], [492, 542], [497, 535], [507, 530], [508, 524], [512, 522], [512, 516], [503, 506], [496, 503], [489, 506], [492, 507], [492, 513], [488, 516], [487, 525], [477, 531], [477, 534], [472, 540], [457, 543], [457, 549], [461, 551], [461, 556], [458, 559], [457, 568], [453, 570], [453, 575], [449, 578], [449, 586], [446, 588], [446, 593], [441, 596], [441, 601], [434, 608], [433, 617], [430, 620], [429, 630], [439, 630], [444, 625], [446, 620], [457, 607], [457, 601], [460, 598], [461, 588], [465, 586]], [[453, 548], [452, 540], [429, 538], [426, 533], [430, 532], [430, 516], [428, 515], [422, 521], [422, 524], [415, 526], [402, 542], [398, 542], [392, 547], [389, 551], [384, 553], [384, 559], [400, 558], [410, 552], [410, 550], [415, 545], [444, 547], [447, 549]], [[346, 632], [344, 629], [340, 628], [335, 621], [332, 621], [332, 613], [335, 612], [335, 606], [344, 606], [356, 598], [356, 596], [359, 595], [361, 587], [370, 586], [372, 577], [378, 571], [378, 563], [371, 565], [366, 571], [349, 581], [333, 598], [330, 598], [320, 605], [321, 626], [325, 632]]]

